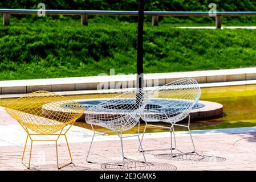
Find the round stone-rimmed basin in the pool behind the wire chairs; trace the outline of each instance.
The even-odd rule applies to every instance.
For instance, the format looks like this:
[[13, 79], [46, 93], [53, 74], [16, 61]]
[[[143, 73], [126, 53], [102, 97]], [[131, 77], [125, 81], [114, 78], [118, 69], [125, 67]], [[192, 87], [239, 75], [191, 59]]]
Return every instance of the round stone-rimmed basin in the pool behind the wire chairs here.
[[[86, 110], [88, 110], [90, 107], [100, 104], [101, 102], [106, 101], [106, 99], [84, 99], [84, 100], [76, 100], [76, 102], [79, 102], [84, 107], [86, 107]], [[166, 102], [166, 100], [153, 100], [151, 101], [148, 106], [154, 105], [154, 108], [161, 109], [161, 102]], [[125, 103], [124, 103], [125, 104]], [[62, 104], [59, 106], [60, 108], [68, 109], [68, 104]], [[109, 109], [111, 109], [111, 105], [109, 105]], [[182, 102], [180, 104], [180, 107], [182, 107]], [[49, 113], [51, 107], [47, 105], [42, 106], [42, 113]], [[105, 108], [106, 109], [106, 108]], [[57, 110], [50, 110], [50, 113], [59, 113], [59, 109]], [[119, 113], [116, 113], [117, 115]], [[124, 114], [124, 113], [122, 113]], [[223, 105], [218, 104], [216, 102], [209, 102], [209, 101], [198, 101], [198, 103], [193, 107], [190, 118], [193, 120], [196, 119], [209, 119], [209, 118], [216, 118], [220, 117], [223, 114]], [[86, 112], [78, 119], [78, 121], [85, 121]]]

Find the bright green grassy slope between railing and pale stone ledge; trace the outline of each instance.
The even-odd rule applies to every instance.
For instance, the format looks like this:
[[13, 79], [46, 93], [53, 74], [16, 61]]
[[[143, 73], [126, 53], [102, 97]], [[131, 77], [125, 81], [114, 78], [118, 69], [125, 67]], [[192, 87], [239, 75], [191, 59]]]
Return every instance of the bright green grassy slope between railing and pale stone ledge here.
[[[16, 21], [16, 22], [15, 22]], [[136, 24], [13, 20], [0, 26], [0, 80], [136, 72]], [[181, 30], [145, 24], [146, 73], [255, 66], [256, 30]]]

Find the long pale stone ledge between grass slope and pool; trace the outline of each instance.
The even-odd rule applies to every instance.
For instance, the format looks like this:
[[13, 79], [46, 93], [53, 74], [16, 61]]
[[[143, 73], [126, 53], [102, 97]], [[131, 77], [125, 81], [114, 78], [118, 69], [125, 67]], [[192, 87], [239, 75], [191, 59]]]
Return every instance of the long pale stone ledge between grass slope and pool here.
[[[185, 77], [192, 77], [200, 84], [249, 81], [256, 80], [256, 67], [194, 72], [150, 73], [144, 75], [144, 86], [160, 86]], [[47, 90], [50, 92], [97, 90], [97, 86], [103, 84], [105, 90], [127, 88], [128, 86], [134, 87], [136, 85], [136, 75], [0, 81], [0, 94], [31, 93], [37, 90]]]

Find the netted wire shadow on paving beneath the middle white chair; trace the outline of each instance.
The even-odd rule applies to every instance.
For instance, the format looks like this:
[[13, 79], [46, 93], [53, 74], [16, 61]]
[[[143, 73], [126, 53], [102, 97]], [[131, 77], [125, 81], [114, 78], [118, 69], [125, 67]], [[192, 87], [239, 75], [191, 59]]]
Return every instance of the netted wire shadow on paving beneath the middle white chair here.
[[176, 171], [176, 166], [166, 163], [146, 162], [127, 159], [124, 166], [118, 166], [122, 162], [112, 162], [112, 164], [102, 164], [101, 168], [106, 171]]

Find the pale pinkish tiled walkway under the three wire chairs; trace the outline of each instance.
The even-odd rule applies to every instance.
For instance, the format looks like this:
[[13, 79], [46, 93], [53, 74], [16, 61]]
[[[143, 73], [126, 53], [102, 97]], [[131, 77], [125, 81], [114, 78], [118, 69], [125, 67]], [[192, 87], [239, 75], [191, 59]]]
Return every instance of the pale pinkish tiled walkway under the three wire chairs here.
[[[237, 129], [193, 131], [198, 154], [170, 157], [170, 151], [146, 152], [147, 163], [129, 160], [124, 167], [108, 164], [86, 163], [87, 151], [92, 132], [72, 127], [68, 133], [70, 149], [76, 166], [62, 170], [255, 170], [256, 169], [256, 127]], [[178, 149], [191, 150], [188, 133], [177, 132]], [[147, 134], [143, 140], [144, 149], [169, 147], [169, 133]], [[14, 119], [11, 119], [0, 107], [0, 170], [27, 170], [21, 163], [26, 133]], [[136, 138], [124, 140], [125, 156], [141, 160], [137, 152], [139, 142]], [[30, 148], [30, 147], [27, 147]], [[29, 157], [26, 151], [25, 160]], [[178, 152], [177, 150], [174, 152]], [[59, 142], [60, 164], [68, 162], [68, 153], [64, 140]], [[96, 137], [92, 146], [91, 160], [103, 162], [121, 162], [120, 141], [116, 136]], [[94, 159], [94, 160], [93, 160]], [[56, 170], [55, 144], [36, 143], [32, 148], [32, 169]]]

